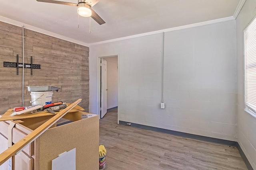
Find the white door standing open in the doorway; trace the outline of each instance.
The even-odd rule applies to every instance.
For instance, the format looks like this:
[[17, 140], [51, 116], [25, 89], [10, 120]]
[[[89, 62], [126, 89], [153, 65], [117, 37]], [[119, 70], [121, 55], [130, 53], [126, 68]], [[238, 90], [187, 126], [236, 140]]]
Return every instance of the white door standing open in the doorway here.
[[107, 113], [107, 61], [103, 58], [101, 59], [101, 112], [100, 118], [102, 118]]

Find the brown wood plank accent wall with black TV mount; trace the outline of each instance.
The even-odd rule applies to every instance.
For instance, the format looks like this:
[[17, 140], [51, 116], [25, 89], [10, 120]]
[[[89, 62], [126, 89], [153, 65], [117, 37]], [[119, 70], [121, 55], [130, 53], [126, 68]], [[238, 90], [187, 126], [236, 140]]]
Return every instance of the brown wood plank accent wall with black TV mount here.
[[[3, 62], [22, 63], [22, 27], [0, 22], [0, 114], [22, 106], [22, 68], [4, 67]], [[24, 63], [40, 64], [41, 69], [24, 68], [24, 105], [30, 106], [26, 86], [58, 86], [53, 102], [79, 104], [89, 111], [89, 48], [62, 39], [24, 29]]]

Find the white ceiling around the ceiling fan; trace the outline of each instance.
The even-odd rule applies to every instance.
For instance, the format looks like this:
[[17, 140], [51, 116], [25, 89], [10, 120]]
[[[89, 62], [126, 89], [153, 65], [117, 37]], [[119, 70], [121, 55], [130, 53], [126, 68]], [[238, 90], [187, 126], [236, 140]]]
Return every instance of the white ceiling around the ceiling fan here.
[[[62, 0], [77, 3], [77, 0]], [[241, 0], [241, 2], [244, 0]], [[75, 6], [36, 0], [0, 0], [0, 16], [87, 44], [193, 23], [233, 17], [240, 0], [100, 0], [92, 9], [99, 25]], [[20, 25], [21, 26], [21, 25]]]

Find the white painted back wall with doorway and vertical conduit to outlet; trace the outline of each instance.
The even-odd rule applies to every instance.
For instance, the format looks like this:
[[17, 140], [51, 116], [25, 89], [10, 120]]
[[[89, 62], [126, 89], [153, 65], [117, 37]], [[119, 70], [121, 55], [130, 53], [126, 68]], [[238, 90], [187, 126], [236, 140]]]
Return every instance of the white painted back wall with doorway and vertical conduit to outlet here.
[[226, 21], [90, 47], [90, 106], [97, 113], [98, 57], [119, 54], [119, 119], [236, 141], [236, 24]]

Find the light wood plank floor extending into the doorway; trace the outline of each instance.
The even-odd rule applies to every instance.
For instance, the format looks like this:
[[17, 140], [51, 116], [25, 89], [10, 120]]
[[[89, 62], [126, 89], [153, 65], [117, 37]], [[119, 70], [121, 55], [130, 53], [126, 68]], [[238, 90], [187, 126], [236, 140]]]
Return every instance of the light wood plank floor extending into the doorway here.
[[247, 170], [236, 147], [117, 124], [117, 110], [100, 119], [105, 170]]

